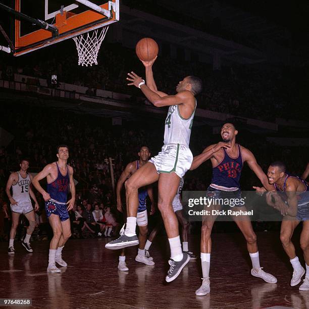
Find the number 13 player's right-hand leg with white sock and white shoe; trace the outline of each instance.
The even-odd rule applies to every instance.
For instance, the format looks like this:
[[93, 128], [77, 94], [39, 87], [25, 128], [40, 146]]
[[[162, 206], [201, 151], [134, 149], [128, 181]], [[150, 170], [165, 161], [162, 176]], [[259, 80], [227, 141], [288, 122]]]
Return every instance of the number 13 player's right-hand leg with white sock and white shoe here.
[[[245, 207], [234, 207], [236, 212], [246, 211]], [[258, 243], [256, 242], [256, 235], [253, 231], [251, 221], [248, 216], [232, 217], [247, 242], [247, 249], [249, 251], [250, 259], [252, 262], [251, 275], [254, 277], [262, 278], [268, 283], [277, 283], [277, 278], [273, 275], [266, 273], [260, 266], [260, 256], [258, 250]]]

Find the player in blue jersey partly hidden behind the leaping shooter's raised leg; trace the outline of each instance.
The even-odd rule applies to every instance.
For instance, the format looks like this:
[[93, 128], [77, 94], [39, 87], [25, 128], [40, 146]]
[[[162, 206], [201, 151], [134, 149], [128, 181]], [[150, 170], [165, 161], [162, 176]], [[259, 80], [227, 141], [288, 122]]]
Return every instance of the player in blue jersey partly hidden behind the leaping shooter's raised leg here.
[[[123, 212], [122, 200], [121, 200], [122, 186], [131, 175], [133, 175], [141, 166], [147, 163], [150, 157], [149, 148], [147, 146], [142, 146], [139, 149], [138, 157], [139, 160], [133, 161], [126, 166], [117, 182], [117, 188], [116, 188], [117, 209], [120, 212]], [[138, 235], [139, 245], [138, 245], [138, 254], [136, 255], [135, 261], [144, 263], [146, 265], [155, 265], [155, 263], [152, 261], [151, 256], [145, 255], [145, 243], [147, 240], [147, 233], [148, 233], [148, 217], [147, 217], [147, 206], [146, 206], [147, 196], [149, 196], [149, 199], [151, 201], [150, 215], [152, 215], [153, 213], [155, 213], [155, 203], [153, 201], [152, 187], [147, 186], [138, 189], [138, 210], [137, 210], [136, 223], [139, 229], [139, 235]], [[125, 259], [126, 259], [125, 250], [123, 249], [119, 256], [119, 264], [118, 264], [118, 269], [121, 271], [129, 270], [128, 267], [126, 266]]]

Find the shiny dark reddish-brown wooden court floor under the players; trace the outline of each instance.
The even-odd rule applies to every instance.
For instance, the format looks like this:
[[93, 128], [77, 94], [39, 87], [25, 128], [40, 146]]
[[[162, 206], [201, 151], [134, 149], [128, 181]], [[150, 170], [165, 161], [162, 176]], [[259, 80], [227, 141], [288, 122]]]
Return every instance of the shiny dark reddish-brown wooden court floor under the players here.
[[[36, 308], [309, 308], [309, 291], [289, 285], [292, 269], [279, 232], [258, 233], [261, 266], [277, 277], [277, 284], [250, 275], [241, 234], [214, 234], [207, 296], [194, 293], [201, 283], [199, 259], [175, 281], [165, 282], [166, 238], [157, 238], [150, 248], [155, 266], [135, 262], [137, 247], [128, 248], [128, 272], [117, 270], [119, 252], [105, 249], [107, 241], [69, 240], [63, 250], [68, 267], [61, 274], [46, 273], [48, 241], [32, 242], [33, 253], [17, 242], [13, 256], [7, 243], [0, 243], [0, 298], [32, 298]], [[198, 243], [199, 237], [191, 235], [189, 249], [197, 255]]]

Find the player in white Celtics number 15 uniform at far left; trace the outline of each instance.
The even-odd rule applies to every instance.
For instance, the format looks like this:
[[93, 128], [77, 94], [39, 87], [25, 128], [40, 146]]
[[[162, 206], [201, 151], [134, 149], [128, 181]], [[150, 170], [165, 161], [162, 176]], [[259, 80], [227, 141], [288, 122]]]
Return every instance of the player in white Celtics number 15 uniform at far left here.
[[[8, 250], [9, 254], [15, 253], [14, 239], [16, 235], [16, 229], [19, 223], [19, 217], [21, 214], [25, 215], [25, 217], [29, 221], [29, 226], [26, 231], [26, 236], [22, 241], [22, 245], [28, 252], [33, 252], [33, 249], [30, 246], [30, 237], [36, 227], [36, 222], [30, 196], [35, 202], [34, 210], [37, 211], [39, 209], [39, 205], [37, 203], [35, 194], [33, 193], [30, 186], [32, 176], [27, 173], [27, 170], [29, 168], [29, 160], [22, 159], [19, 166], [20, 170], [10, 175], [6, 186], [6, 193], [11, 202], [11, 210], [12, 210], [12, 227], [10, 231], [10, 241]], [[11, 195], [10, 192], [11, 187], [13, 195]]]

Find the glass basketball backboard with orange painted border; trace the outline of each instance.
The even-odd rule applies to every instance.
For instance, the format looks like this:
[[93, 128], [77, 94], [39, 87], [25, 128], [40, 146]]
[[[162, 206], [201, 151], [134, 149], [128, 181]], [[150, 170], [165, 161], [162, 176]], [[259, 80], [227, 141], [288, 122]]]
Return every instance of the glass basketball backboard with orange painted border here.
[[15, 24], [14, 56], [30, 53], [33, 50], [58, 43], [119, 20], [119, 0], [91, 0], [96, 8], [104, 9], [98, 13], [89, 8], [86, 0], [15, 0], [15, 11], [52, 25], [56, 34], [40, 29], [31, 22], [12, 16]]

